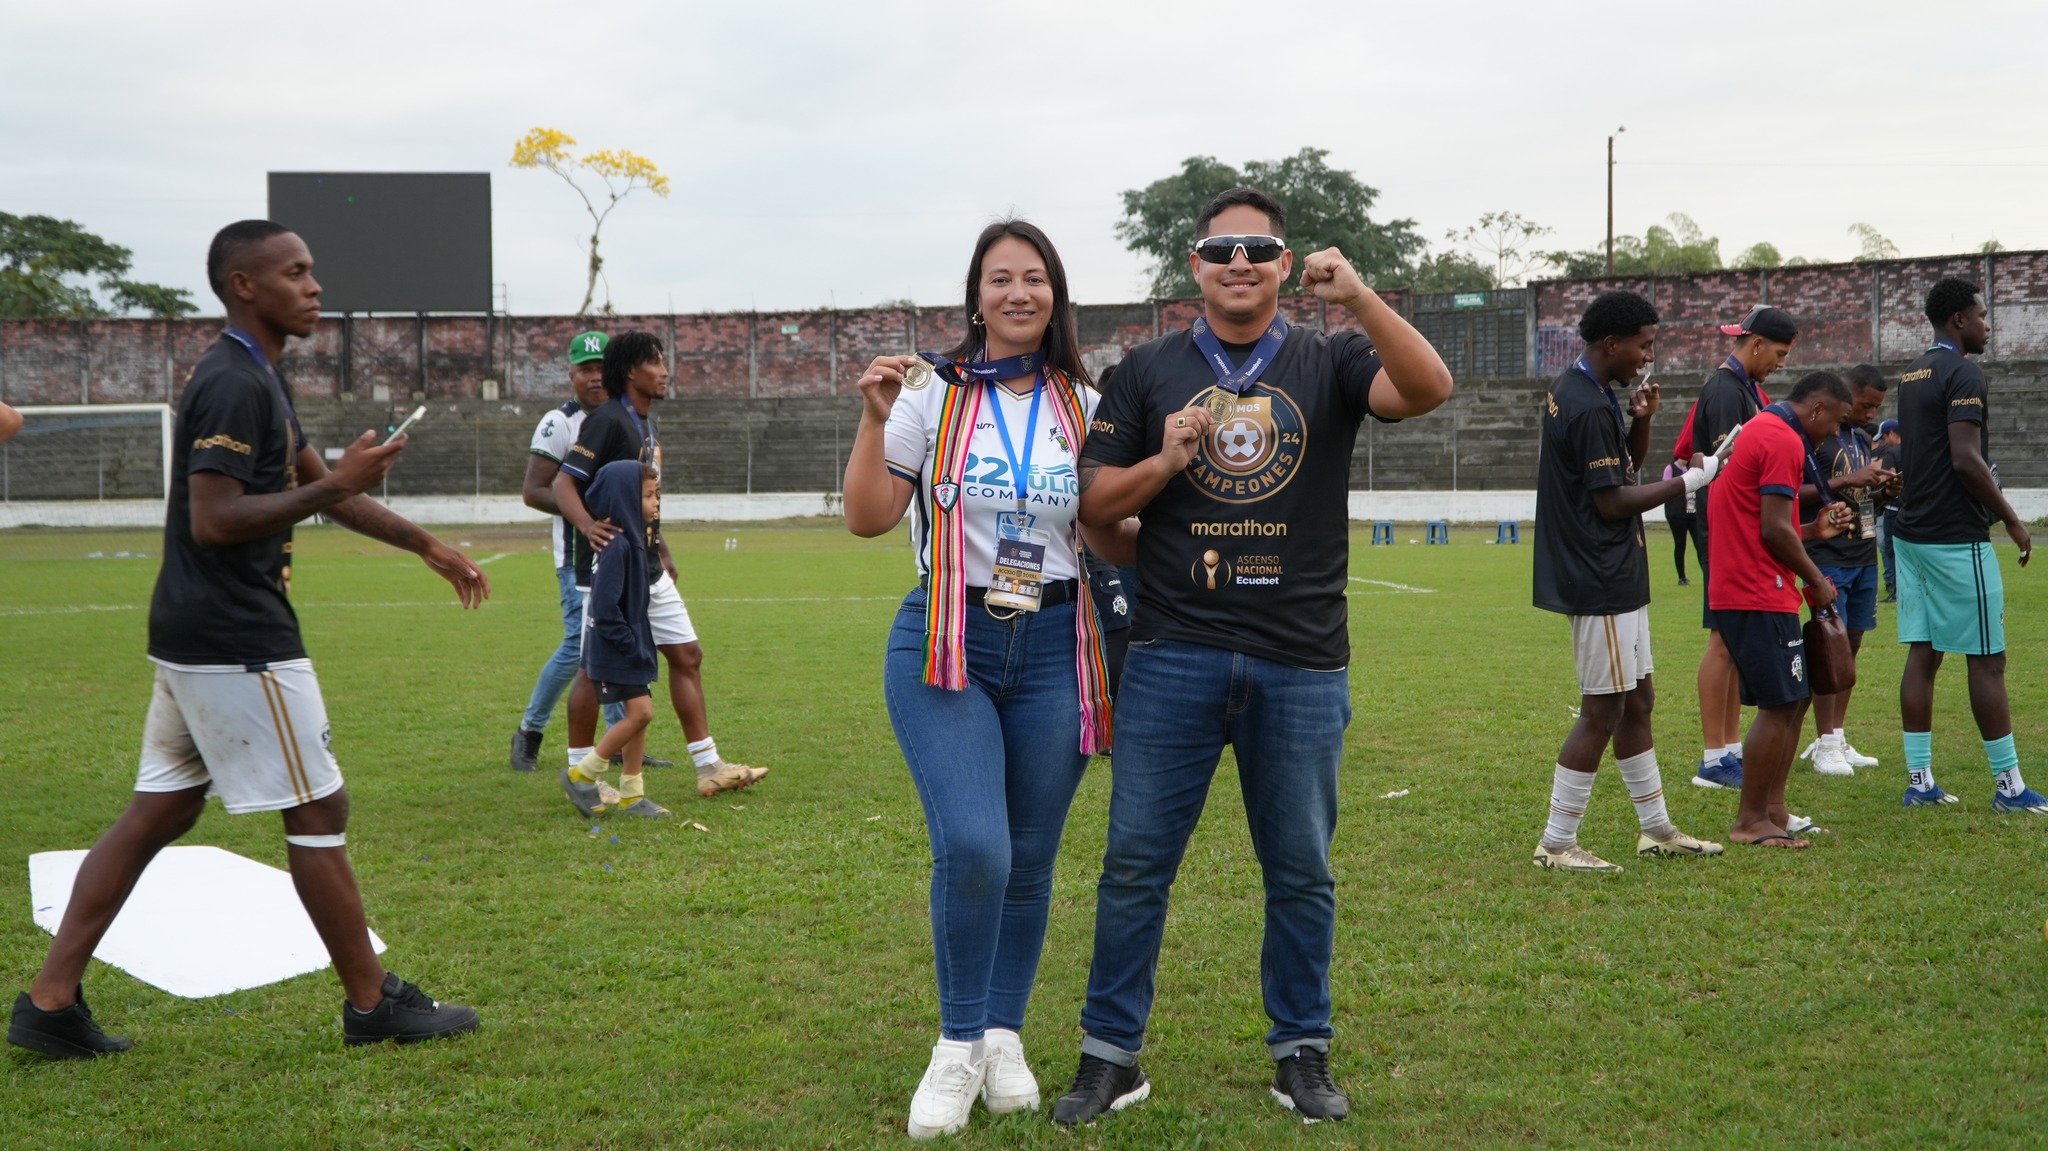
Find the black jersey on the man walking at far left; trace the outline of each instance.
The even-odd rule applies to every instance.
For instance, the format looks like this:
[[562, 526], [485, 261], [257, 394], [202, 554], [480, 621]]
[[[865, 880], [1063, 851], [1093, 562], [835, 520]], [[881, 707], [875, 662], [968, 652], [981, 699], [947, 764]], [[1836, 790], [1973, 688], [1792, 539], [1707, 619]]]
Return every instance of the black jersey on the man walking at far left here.
[[223, 666], [303, 659], [291, 610], [291, 528], [225, 547], [193, 539], [193, 473], [217, 471], [252, 496], [299, 485], [299, 416], [285, 381], [221, 336], [193, 369], [172, 428], [164, 567], [150, 598], [150, 655]]

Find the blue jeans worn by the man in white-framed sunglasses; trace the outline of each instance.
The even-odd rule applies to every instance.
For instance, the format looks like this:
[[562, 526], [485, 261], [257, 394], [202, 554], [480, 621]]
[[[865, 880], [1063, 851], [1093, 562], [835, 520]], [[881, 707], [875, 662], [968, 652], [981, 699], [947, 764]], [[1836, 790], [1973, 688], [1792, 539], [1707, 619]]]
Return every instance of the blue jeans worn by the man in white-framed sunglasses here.
[[1085, 1055], [1130, 1063], [1145, 1047], [1167, 893], [1202, 817], [1223, 745], [1237, 750], [1245, 821], [1266, 881], [1260, 989], [1284, 1059], [1329, 1049], [1337, 883], [1337, 762], [1352, 721], [1346, 672], [1309, 672], [1221, 647], [1133, 643], [1116, 694], [1110, 840], [1096, 887], [1096, 958], [1081, 1010]]

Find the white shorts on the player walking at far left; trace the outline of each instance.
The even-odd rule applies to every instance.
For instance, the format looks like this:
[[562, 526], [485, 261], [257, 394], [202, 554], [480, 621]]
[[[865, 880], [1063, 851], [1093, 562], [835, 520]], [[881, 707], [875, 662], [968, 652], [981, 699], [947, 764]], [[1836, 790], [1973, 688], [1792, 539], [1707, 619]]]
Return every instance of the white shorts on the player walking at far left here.
[[135, 791], [211, 782], [233, 815], [303, 807], [342, 788], [330, 741], [311, 659], [262, 672], [158, 664]]

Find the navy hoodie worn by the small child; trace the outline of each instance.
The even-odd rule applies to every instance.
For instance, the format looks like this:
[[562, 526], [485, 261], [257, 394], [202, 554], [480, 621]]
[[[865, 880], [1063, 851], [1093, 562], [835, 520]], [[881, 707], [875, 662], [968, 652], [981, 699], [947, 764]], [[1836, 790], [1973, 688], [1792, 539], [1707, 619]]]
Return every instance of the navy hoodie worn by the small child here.
[[651, 684], [657, 678], [653, 625], [647, 623], [647, 524], [639, 496], [637, 459], [606, 463], [584, 489], [590, 518], [618, 524], [618, 535], [590, 567], [584, 674], [594, 682]]

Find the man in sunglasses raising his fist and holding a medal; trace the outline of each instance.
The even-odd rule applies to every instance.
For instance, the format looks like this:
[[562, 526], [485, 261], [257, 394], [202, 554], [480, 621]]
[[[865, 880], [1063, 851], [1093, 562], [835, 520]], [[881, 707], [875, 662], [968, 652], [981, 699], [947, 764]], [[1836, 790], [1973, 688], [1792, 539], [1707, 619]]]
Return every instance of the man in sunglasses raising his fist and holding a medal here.
[[1145, 1098], [1139, 1071], [1167, 893], [1223, 745], [1237, 752], [1266, 881], [1262, 987], [1274, 1096], [1343, 1118], [1329, 1073], [1337, 762], [1350, 721], [1348, 479], [1358, 424], [1450, 395], [1436, 350], [1335, 248], [1300, 283], [1364, 334], [1290, 330], [1286, 217], [1251, 188], [1196, 217], [1204, 313], [1135, 348], [1081, 449], [1081, 520], [1137, 514], [1145, 606], [1116, 696], [1116, 772], [1096, 889], [1081, 1067], [1061, 1124]]

